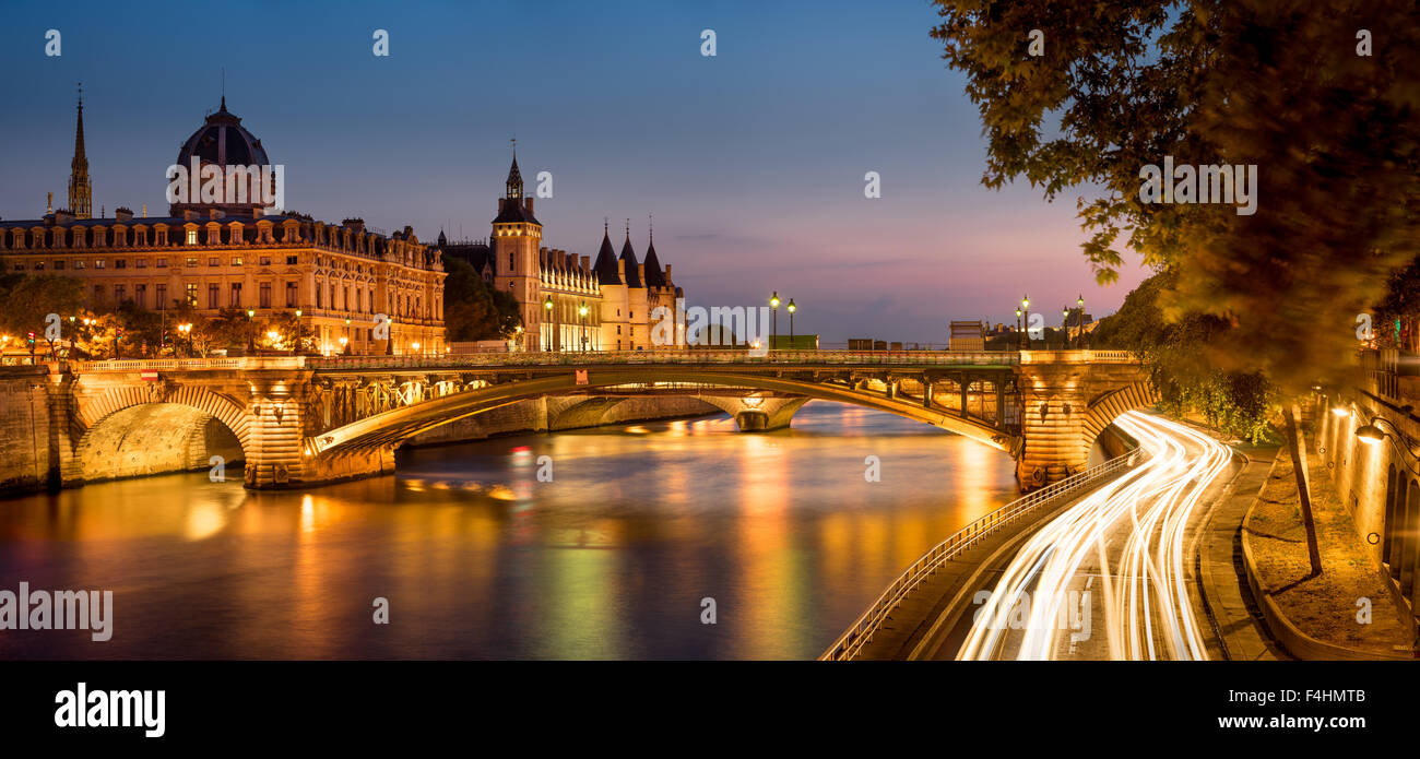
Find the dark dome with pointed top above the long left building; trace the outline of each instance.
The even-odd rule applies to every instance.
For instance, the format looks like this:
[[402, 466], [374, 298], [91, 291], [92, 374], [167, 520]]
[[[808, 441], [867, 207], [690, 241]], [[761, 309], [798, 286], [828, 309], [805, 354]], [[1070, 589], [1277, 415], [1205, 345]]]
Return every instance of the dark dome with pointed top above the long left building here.
[[209, 115], [206, 123], [182, 143], [176, 166], [187, 170], [189, 180], [196, 176], [199, 182], [203, 167], [216, 166], [222, 200], [197, 203], [199, 199], [189, 193], [187, 203], [169, 204], [168, 213], [172, 216], [182, 216], [186, 210], [216, 209], [224, 214], [250, 217], [253, 210], [268, 206], [264, 197], [273, 197], [275, 193], [273, 179], [267, 186], [267, 194], [261, 194], [261, 173], [253, 172], [251, 167], [271, 166], [271, 159], [267, 157], [266, 148], [261, 148], [261, 140], [241, 126], [240, 118], [227, 111], [226, 95], [222, 96], [222, 108]]

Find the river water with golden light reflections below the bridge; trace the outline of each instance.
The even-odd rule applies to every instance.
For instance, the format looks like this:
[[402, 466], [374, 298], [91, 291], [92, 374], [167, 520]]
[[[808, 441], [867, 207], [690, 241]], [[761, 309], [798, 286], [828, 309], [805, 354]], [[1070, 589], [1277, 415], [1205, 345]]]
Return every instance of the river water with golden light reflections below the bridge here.
[[307, 494], [229, 477], [0, 501], [0, 590], [114, 593], [111, 640], [0, 630], [0, 658], [812, 658], [1014, 497], [1008, 455], [824, 401], [768, 434], [720, 417], [423, 448]]

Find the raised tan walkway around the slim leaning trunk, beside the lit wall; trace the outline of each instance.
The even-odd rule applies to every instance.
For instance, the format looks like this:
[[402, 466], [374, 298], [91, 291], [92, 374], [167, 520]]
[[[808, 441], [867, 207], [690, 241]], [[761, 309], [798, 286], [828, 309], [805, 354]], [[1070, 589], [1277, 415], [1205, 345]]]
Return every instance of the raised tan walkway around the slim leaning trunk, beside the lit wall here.
[[[1365, 552], [1350, 514], [1336, 497], [1331, 472], [1315, 455], [1308, 462], [1322, 558], [1319, 577], [1306, 579], [1311, 573], [1306, 532], [1292, 458], [1285, 448], [1277, 454], [1242, 519], [1242, 566], [1268, 630], [1296, 658], [1414, 658], [1406, 624], [1409, 610], [1396, 604], [1382, 569]], [[1367, 604], [1370, 621], [1365, 623]], [[1234, 658], [1251, 658], [1254, 651], [1240, 644], [1241, 655]]]

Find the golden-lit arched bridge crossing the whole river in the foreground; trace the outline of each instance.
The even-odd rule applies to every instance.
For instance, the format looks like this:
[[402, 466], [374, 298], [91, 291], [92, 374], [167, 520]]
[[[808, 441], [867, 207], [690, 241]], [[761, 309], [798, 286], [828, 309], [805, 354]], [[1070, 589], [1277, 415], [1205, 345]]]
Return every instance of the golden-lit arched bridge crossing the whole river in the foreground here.
[[[48, 410], [51, 484], [244, 460], [246, 487], [300, 488], [393, 471], [395, 450], [450, 421], [548, 399], [558, 428], [619, 400], [701, 399], [772, 430], [811, 399], [889, 411], [1010, 453], [1022, 489], [1085, 467], [1100, 431], [1153, 403], [1125, 352], [744, 350], [479, 353], [68, 362], [23, 367]], [[550, 424], [550, 428], [552, 426]]]

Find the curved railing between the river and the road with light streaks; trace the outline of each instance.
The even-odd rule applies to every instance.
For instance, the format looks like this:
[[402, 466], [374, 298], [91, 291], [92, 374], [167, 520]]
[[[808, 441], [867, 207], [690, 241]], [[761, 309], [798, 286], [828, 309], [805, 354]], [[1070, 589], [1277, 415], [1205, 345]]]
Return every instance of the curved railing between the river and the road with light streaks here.
[[912, 563], [902, 575], [888, 586], [878, 600], [875, 600], [862, 616], [858, 617], [842, 636], [838, 637], [818, 658], [822, 661], [845, 661], [858, 657], [863, 646], [873, 640], [873, 636], [886, 621], [888, 616], [902, 604], [929, 576], [941, 565], [960, 556], [964, 550], [976, 545], [987, 535], [1014, 522], [1015, 519], [1064, 498], [1072, 498], [1081, 492], [1110, 480], [1135, 465], [1140, 464], [1147, 454], [1136, 450], [1106, 461], [1098, 467], [1066, 477], [1059, 482], [1041, 488], [1024, 498], [981, 516], [970, 525], [958, 529], [946, 541], [941, 541], [932, 550], [926, 552]]

